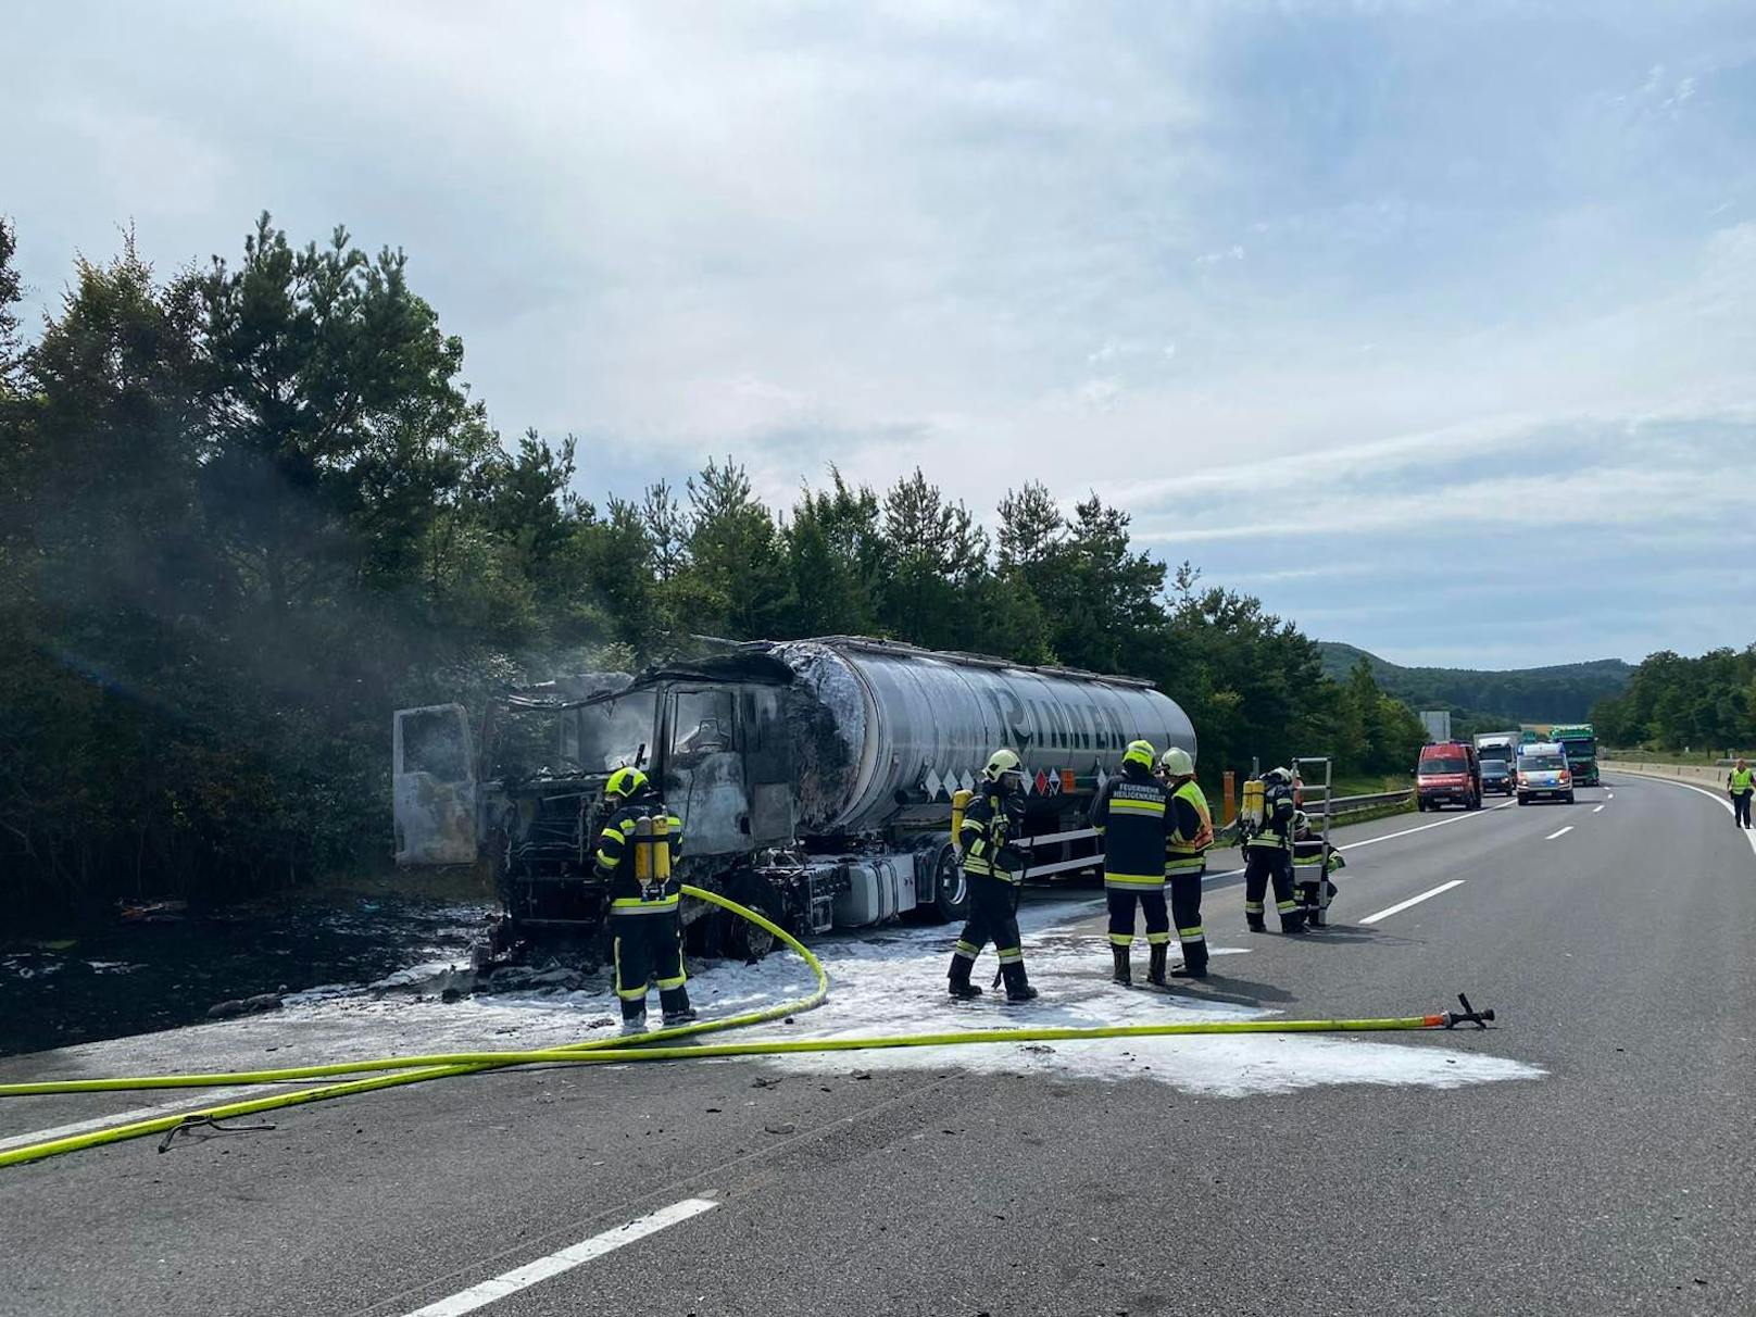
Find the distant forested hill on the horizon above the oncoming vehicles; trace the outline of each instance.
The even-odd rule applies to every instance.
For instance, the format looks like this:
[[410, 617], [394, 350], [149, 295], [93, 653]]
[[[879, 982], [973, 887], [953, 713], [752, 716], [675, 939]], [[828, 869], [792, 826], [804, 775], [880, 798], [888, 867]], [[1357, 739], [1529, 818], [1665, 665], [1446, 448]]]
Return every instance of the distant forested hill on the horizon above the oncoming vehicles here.
[[1619, 695], [1633, 666], [1621, 658], [1556, 667], [1515, 667], [1494, 673], [1477, 667], [1401, 667], [1340, 641], [1317, 641], [1322, 671], [1345, 681], [1361, 658], [1389, 694], [1417, 709], [1452, 709], [1472, 720], [1582, 722], [1605, 695]]

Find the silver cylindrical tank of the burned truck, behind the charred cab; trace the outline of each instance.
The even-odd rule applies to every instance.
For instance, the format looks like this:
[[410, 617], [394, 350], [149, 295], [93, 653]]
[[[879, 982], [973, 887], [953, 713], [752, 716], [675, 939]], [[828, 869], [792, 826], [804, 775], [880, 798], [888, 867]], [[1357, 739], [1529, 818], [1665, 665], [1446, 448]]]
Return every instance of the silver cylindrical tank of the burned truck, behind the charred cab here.
[[1022, 667], [862, 637], [771, 650], [817, 716], [794, 722], [799, 824], [876, 827], [903, 801], [945, 801], [996, 748], [1017, 750], [1033, 799], [1117, 774], [1129, 741], [1196, 752], [1189, 716], [1152, 683]]

